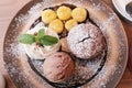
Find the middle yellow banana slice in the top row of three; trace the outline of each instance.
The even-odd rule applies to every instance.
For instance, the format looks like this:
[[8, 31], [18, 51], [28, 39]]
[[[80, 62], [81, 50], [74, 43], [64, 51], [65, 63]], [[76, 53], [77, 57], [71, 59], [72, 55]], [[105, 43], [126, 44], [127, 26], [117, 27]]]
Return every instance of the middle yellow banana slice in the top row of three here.
[[61, 20], [68, 20], [72, 16], [72, 9], [62, 6], [57, 9], [57, 15]]

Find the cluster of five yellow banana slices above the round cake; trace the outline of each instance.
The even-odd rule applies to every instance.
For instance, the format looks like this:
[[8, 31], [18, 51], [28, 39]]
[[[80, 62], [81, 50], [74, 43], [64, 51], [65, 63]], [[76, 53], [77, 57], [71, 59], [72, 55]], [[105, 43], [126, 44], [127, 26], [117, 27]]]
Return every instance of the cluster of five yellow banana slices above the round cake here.
[[57, 10], [47, 9], [42, 12], [42, 21], [50, 29], [61, 34], [64, 30], [70, 31], [72, 28], [87, 19], [87, 11], [84, 8], [61, 6]]

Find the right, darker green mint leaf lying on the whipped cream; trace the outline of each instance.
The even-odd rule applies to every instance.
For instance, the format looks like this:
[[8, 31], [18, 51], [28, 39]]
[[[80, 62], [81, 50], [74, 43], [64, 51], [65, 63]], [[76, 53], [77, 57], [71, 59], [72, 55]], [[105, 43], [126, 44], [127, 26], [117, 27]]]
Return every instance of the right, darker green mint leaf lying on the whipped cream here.
[[40, 41], [42, 45], [46, 45], [46, 46], [54, 45], [57, 42], [58, 42], [58, 38], [51, 35], [44, 35], [44, 37], [42, 37]]

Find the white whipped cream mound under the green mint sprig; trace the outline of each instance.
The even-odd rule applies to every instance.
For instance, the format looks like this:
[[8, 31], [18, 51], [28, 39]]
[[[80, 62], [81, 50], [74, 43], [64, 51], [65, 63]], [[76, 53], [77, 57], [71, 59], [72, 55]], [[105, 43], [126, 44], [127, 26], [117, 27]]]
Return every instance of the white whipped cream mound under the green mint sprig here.
[[[45, 26], [41, 26], [41, 28], [34, 28], [32, 30], [29, 30], [26, 33], [29, 34], [34, 34], [37, 33], [40, 29], [45, 29], [45, 34], [46, 35], [52, 35], [58, 38], [58, 35], [56, 32], [54, 32], [53, 30], [50, 30]], [[23, 44], [24, 45], [24, 50], [25, 53], [32, 58], [32, 59], [44, 59], [47, 56], [52, 55], [53, 53], [56, 53], [59, 47], [61, 47], [61, 43], [58, 41], [57, 44], [53, 45], [53, 46], [40, 46], [36, 43], [33, 43], [31, 45], [29, 44]]]

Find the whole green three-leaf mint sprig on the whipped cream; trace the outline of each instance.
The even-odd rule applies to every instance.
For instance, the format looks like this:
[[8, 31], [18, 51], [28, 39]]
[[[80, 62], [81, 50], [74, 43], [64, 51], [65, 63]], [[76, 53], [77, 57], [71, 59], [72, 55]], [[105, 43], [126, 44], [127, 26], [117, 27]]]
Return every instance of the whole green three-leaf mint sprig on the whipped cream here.
[[58, 42], [58, 38], [51, 35], [45, 35], [45, 30], [41, 29], [37, 35], [32, 34], [23, 34], [20, 35], [19, 42], [23, 44], [33, 44], [35, 42], [40, 43], [41, 45], [52, 46]]

